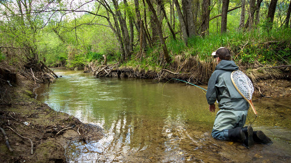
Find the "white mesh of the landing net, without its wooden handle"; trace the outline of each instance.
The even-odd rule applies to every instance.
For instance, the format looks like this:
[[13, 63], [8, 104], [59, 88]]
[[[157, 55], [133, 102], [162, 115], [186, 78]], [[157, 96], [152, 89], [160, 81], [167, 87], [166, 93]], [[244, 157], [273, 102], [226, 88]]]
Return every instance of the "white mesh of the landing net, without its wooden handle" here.
[[246, 99], [251, 100], [254, 93], [254, 86], [252, 81], [242, 71], [239, 70], [232, 73], [232, 79], [235, 85], [241, 91], [242, 95]]

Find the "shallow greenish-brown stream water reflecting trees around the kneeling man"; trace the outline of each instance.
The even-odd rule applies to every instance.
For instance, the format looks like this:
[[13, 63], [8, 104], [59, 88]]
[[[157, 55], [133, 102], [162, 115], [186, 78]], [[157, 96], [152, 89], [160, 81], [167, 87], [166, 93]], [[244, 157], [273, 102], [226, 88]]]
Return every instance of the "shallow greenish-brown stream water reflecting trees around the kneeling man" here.
[[[105, 134], [95, 142], [70, 142], [68, 162], [291, 162], [291, 98], [253, 99], [259, 118], [252, 126], [273, 144], [246, 149], [211, 137], [216, 113], [210, 113], [205, 93], [195, 86], [55, 72], [63, 77], [39, 87], [37, 99], [99, 125]], [[249, 119], [254, 120], [251, 109]]]

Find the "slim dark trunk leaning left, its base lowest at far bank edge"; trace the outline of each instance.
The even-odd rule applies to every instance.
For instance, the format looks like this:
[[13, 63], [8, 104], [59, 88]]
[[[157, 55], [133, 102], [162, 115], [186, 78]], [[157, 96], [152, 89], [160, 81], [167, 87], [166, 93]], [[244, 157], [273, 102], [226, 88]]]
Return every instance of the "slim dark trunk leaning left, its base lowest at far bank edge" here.
[[168, 49], [167, 49], [167, 46], [166, 46], [165, 41], [163, 39], [162, 27], [160, 25], [158, 16], [157, 16], [156, 11], [155, 11], [153, 5], [151, 4], [150, 0], [146, 0], [146, 2], [147, 2], [147, 5], [148, 5], [149, 9], [151, 10], [151, 12], [153, 14], [153, 18], [154, 18], [154, 21], [155, 21], [155, 24], [156, 24], [156, 27], [157, 27], [157, 30], [158, 30], [159, 38], [160, 38], [160, 41], [161, 41], [161, 46], [162, 46], [164, 58], [165, 58], [167, 63], [170, 63], [171, 58], [170, 58], [170, 56], [168, 54]]

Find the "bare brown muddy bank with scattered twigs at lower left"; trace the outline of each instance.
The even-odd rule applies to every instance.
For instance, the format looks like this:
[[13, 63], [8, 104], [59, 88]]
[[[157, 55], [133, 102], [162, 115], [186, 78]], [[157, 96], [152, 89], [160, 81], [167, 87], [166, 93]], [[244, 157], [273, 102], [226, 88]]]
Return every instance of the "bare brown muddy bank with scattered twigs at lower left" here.
[[57, 112], [34, 99], [34, 81], [17, 73], [17, 83], [0, 83], [0, 162], [66, 162], [65, 148], [72, 140], [102, 138], [102, 129]]

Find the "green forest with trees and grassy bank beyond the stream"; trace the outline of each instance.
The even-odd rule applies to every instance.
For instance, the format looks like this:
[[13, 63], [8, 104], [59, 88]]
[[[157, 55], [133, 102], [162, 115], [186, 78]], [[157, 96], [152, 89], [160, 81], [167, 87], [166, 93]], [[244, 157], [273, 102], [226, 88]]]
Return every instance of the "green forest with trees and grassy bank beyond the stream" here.
[[[119, 63], [205, 83], [224, 46], [240, 68], [291, 65], [290, 0], [0, 0], [0, 63], [84, 68]], [[189, 77], [189, 76], [188, 76]]]

